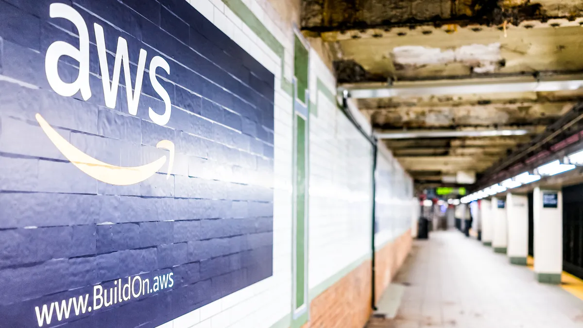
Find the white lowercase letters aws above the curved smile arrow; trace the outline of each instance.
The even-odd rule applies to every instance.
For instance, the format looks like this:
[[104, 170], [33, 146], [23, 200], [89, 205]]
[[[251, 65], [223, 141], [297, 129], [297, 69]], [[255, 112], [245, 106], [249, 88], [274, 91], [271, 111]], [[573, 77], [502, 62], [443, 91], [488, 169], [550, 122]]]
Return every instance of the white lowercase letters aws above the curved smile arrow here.
[[[76, 48], [65, 41], [55, 41], [48, 47], [47, 56], [44, 62], [48, 83], [51, 85], [51, 88], [61, 96], [70, 97], [80, 91], [83, 99], [87, 100], [91, 97], [91, 88], [89, 86], [89, 31], [87, 30], [87, 24], [79, 12], [65, 4], [51, 4], [50, 16], [51, 18], [67, 19], [75, 25], [79, 31], [79, 48]], [[138, 72], [136, 73], [135, 86], [132, 90], [131, 74], [129, 72], [128, 43], [124, 38], [119, 37], [117, 41], [117, 51], [115, 53], [113, 76], [111, 76], [111, 81], [113, 82], [110, 83], [103, 27], [94, 23], [93, 28], [95, 30], [101, 81], [103, 82], [103, 94], [105, 96], [106, 106], [111, 109], [115, 107], [121, 68], [123, 65], [129, 114], [138, 114], [138, 103], [140, 93], [142, 92], [142, 81], [146, 67], [146, 50], [140, 49]], [[61, 56], [69, 56], [76, 61], [79, 61], [79, 76], [71, 83], [64, 82], [59, 77], [57, 65]], [[148, 114], [154, 123], [165, 125], [170, 120], [171, 103], [168, 92], [156, 78], [156, 69], [159, 67], [164, 69], [167, 74], [170, 74], [170, 65], [168, 65], [168, 62], [164, 60], [164, 58], [156, 56], [150, 61], [149, 78], [154, 91], [156, 91], [164, 101], [164, 113], [158, 114], [149, 107]]]

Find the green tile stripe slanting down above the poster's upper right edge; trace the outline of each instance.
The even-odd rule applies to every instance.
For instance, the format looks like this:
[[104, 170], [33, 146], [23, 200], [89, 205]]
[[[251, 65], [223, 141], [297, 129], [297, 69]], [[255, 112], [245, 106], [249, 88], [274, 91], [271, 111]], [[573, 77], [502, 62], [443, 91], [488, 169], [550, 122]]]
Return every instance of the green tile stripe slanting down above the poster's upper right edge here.
[[267, 27], [263, 25], [261, 20], [255, 16], [255, 14], [244, 4], [242, 0], [223, 0], [224, 4], [231, 9], [238, 16], [243, 23], [249, 27], [261, 39], [264, 43], [282, 60], [282, 90], [284, 90], [288, 95], [291, 96], [293, 93], [292, 85], [290, 81], [287, 81], [285, 72], [285, 48], [278, 41], [278, 39], [269, 32]]

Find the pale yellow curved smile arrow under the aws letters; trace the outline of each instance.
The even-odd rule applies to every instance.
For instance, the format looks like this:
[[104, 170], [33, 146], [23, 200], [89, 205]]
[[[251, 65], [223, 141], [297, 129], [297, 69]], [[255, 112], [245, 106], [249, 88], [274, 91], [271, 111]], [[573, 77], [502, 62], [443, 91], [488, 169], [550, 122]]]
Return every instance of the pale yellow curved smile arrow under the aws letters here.
[[[86, 153], [80, 151], [70, 142], [66, 141], [54, 128], [51, 127], [44, 120], [40, 114], [36, 114], [36, 119], [40, 127], [43, 128], [47, 137], [51, 142], [57, 146], [57, 149], [71, 161], [79, 170], [82, 170], [87, 175], [97, 179], [101, 182], [115, 184], [117, 186], [127, 186], [128, 184], [135, 184], [142, 182], [153, 176], [166, 163], [166, 156], [154, 160], [142, 166], [135, 166], [126, 168], [124, 166], [115, 166], [108, 163], [101, 162]], [[174, 162], [174, 144], [170, 140], [162, 140], [156, 145], [157, 148], [167, 149], [170, 151], [170, 160], [168, 161], [168, 173], [166, 179], [170, 177], [172, 165]]]

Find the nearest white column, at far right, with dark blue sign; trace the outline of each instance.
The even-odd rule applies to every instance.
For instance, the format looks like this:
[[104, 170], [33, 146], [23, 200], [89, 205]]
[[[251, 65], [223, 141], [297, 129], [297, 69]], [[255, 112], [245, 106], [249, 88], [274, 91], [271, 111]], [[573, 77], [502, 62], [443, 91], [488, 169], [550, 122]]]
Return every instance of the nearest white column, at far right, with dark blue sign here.
[[540, 190], [533, 193], [535, 222], [535, 273], [539, 282], [560, 284], [563, 273], [563, 194]]

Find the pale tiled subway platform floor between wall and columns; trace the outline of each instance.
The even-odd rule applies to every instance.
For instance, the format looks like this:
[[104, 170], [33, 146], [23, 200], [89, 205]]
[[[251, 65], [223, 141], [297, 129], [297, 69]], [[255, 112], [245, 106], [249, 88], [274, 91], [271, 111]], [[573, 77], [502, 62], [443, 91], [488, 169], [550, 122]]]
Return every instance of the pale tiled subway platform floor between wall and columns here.
[[458, 231], [416, 240], [394, 284], [404, 286], [396, 316], [367, 328], [583, 327], [581, 299]]

